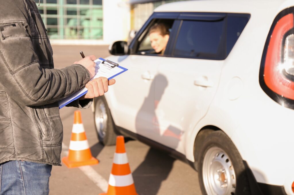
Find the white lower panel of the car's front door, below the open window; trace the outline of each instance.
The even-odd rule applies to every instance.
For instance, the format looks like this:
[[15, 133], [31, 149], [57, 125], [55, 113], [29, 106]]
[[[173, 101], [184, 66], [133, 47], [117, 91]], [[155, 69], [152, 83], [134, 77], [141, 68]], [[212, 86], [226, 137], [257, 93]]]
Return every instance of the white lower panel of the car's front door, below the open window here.
[[106, 94], [107, 99], [112, 102], [111, 112], [116, 125], [133, 132], [136, 132], [136, 129], [152, 129], [153, 78], [158, 69], [156, 58], [158, 57], [143, 55], [108, 58], [128, 69], [116, 78], [116, 84], [111, 86], [114, 94]]

